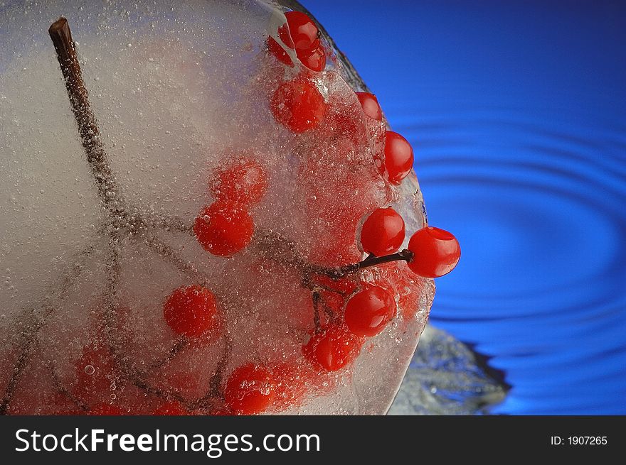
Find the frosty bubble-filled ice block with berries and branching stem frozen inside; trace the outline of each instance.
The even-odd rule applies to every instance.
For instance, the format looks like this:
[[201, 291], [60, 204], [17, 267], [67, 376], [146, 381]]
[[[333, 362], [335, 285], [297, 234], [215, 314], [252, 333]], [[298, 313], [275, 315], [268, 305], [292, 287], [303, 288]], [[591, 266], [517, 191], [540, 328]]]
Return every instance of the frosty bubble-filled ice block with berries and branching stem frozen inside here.
[[[406, 246], [422, 197], [414, 173], [389, 182], [354, 70], [324, 36], [294, 43], [285, 13], [0, 8], [0, 410], [386, 411], [434, 286], [350, 264], [379, 207]], [[376, 337], [342, 320], [367, 284], [397, 306]]]

